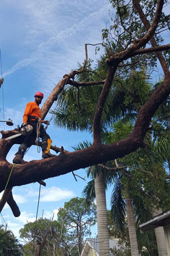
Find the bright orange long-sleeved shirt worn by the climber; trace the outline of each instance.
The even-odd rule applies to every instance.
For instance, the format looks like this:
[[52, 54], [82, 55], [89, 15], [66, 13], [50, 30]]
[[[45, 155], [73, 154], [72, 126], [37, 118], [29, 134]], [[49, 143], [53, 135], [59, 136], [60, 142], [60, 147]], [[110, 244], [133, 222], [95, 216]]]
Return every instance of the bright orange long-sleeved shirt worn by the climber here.
[[23, 115], [23, 123], [27, 124], [29, 115], [41, 118], [41, 109], [39, 109], [38, 104], [34, 101], [27, 104]]

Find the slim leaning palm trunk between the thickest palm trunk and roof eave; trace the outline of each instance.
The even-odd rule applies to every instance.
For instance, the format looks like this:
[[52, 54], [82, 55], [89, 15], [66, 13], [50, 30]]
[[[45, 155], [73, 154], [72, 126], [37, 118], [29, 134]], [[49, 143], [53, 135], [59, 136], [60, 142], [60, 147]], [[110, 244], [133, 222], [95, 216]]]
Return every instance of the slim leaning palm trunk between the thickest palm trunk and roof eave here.
[[135, 226], [133, 207], [131, 204], [128, 185], [126, 185], [126, 188], [124, 190], [125, 190], [125, 197], [126, 197], [126, 212], [127, 212], [127, 221], [128, 221], [128, 229], [129, 229], [129, 238], [130, 238], [130, 244], [131, 244], [131, 256], [139, 256], [139, 251], [137, 246], [136, 226]]

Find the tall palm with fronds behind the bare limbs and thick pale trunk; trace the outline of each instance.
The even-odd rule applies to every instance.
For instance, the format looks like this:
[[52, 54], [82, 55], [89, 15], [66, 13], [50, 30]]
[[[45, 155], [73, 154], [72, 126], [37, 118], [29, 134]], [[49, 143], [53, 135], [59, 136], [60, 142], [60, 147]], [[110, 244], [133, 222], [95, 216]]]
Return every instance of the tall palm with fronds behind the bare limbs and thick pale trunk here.
[[[90, 80], [94, 79], [94, 81], [98, 80], [98, 76], [102, 76], [102, 58], [101, 62], [99, 61], [99, 69], [97, 70], [98, 74], [91, 73], [90, 74]], [[88, 73], [82, 73], [77, 80], [78, 81], [88, 81], [89, 79], [89, 71], [90, 71], [90, 64], [88, 66]], [[141, 83], [143, 85], [143, 91], [146, 97], [146, 94], [149, 92], [149, 86], [146, 81], [143, 79], [143, 75], [145, 74], [143, 72], [134, 72], [131, 75], [131, 79], [128, 81], [122, 81], [121, 85], [119, 82], [114, 81], [113, 89], [109, 92], [109, 96], [107, 97], [107, 102], [105, 104], [105, 109], [103, 109], [103, 119], [102, 119], [102, 125], [103, 125], [103, 131], [107, 130], [107, 127], [109, 124], [111, 124], [113, 121], [120, 117], [128, 117], [130, 119], [134, 118], [134, 116], [137, 115], [137, 110], [139, 109], [139, 100], [137, 102], [133, 102], [131, 104], [126, 104], [126, 100], [129, 97], [129, 91], [126, 89], [124, 90], [124, 84], [129, 83], [133, 84], [139, 83], [139, 79], [141, 79]], [[83, 76], [83, 77], [82, 77]], [[67, 127], [69, 130], [88, 130], [92, 132], [92, 117], [93, 117], [93, 110], [94, 105], [97, 104], [98, 96], [101, 92], [102, 85], [99, 85], [97, 87], [91, 88], [91, 87], [80, 87], [79, 89], [75, 87], [68, 87], [58, 98], [58, 109], [55, 109], [53, 113], [55, 114], [55, 122], [58, 124], [58, 126], [61, 127]], [[141, 94], [141, 90], [135, 91], [135, 95], [131, 94], [131, 98], [134, 101], [135, 96], [138, 95], [138, 99], [143, 99], [143, 92]], [[74, 111], [73, 111], [74, 106]], [[75, 106], [77, 106], [77, 112], [75, 113]], [[135, 108], [135, 110], [134, 110]], [[112, 112], [112, 115], [110, 115], [110, 112]], [[109, 115], [108, 115], [109, 113]], [[103, 202], [103, 209], [105, 208], [105, 221], [99, 221], [99, 218], [101, 214], [97, 213], [97, 220], [99, 223], [107, 223], [107, 213], [106, 213], [106, 206], [105, 206], [105, 193], [101, 196], [101, 181], [103, 177], [102, 174], [97, 174], [95, 177], [95, 189], [97, 189], [97, 197], [98, 193], [100, 193], [99, 198], [97, 199], [97, 203], [100, 202], [100, 208], [98, 208], [98, 212], [101, 211], [101, 201]], [[97, 184], [99, 183], [99, 185]], [[101, 188], [101, 190], [99, 190]], [[104, 218], [104, 217], [103, 217]], [[105, 251], [105, 255], [107, 255], [109, 252], [108, 248], [108, 234], [105, 235], [103, 233], [105, 228], [105, 234], [107, 234], [107, 224], [105, 224], [105, 227], [98, 228], [99, 233], [101, 232], [101, 235], [99, 234], [100, 241], [101, 236], [105, 236], [104, 240], [105, 244], [107, 243], [107, 250]], [[103, 250], [103, 246], [101, 242], [100, 244], [100, 250]]]

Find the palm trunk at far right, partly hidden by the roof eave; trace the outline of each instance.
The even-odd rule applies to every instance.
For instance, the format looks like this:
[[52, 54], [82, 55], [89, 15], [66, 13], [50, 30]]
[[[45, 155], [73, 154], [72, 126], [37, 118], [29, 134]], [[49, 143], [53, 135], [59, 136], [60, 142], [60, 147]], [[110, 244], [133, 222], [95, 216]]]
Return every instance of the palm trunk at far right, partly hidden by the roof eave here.
[[[163, 211], [161, 209], [156, 209], [156, 207], [152, 208], [152, 216], [156, 216], [158, 214], [161, 214]], [[167, 256], [167, 246], [165, 241], [165, 233], [163, 227], [156, 227], [154, 229], [155, 236], [156, 236], [156, 242], [158, 247], [158, 255], [159, 256]]]

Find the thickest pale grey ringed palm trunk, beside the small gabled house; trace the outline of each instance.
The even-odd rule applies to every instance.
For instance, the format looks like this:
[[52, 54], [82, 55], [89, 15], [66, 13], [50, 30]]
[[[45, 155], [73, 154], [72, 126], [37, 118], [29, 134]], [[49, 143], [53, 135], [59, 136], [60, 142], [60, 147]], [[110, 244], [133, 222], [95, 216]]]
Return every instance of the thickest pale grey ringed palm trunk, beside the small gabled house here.
[[95, 177], [95, 193], [97, 200], [99, 256], [109, 256], [109, 233], [107, 228], [105, 180], [103, 174], [101, 173]]

